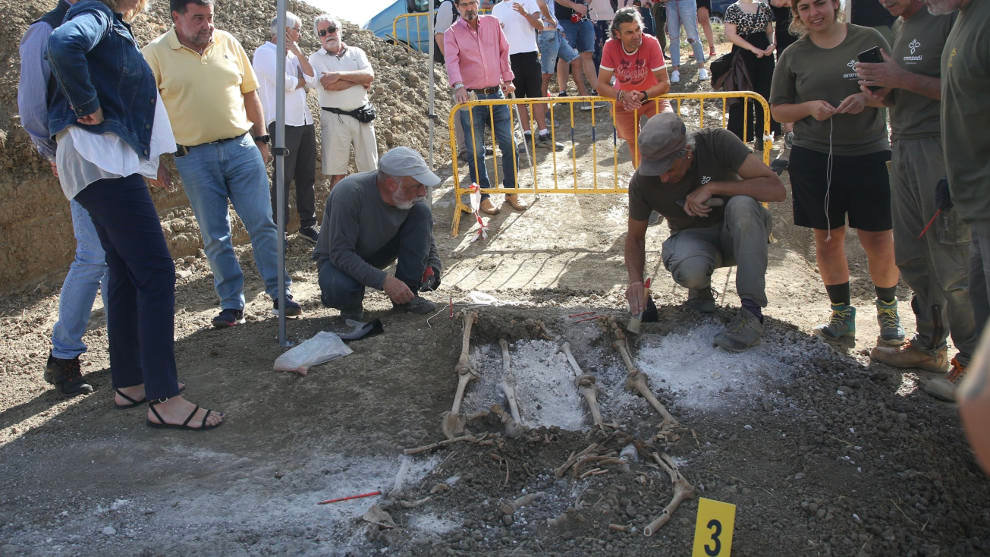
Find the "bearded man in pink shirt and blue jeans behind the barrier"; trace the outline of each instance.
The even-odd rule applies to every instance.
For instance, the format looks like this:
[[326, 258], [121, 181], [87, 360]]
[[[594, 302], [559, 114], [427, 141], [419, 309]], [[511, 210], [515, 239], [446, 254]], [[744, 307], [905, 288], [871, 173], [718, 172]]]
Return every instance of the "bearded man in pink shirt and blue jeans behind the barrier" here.
[[[515, 75], [509, 66], [509, 43], [502, 33], [498, 19], [478, 15], [478, 0], [458, 0], [457, 11], [461, 17], [443, 34], [443, 52], [447, 64], [447, 76], [458, 104], [476, 97], [478, 100], [504, 99], [515, 91], [512, 79]], [[491, 112], [489, 112], [491, 108]], [[516, 187], [515, 146], [509, 127], [507, 106], [478, 106], [461, 111], [464, 142], [468, 148], [468, 170], [472, 182], [482, 191], [491, 187], [488, 167], [485, 164], [485, 127], [494, 125], [495, 141], [502, 151], [502, 176], [506, 188]], [[473, 128], [473, 129], [472, 129]], [[472, 139], [473, 137], [473, 139]], [[482, 193], [481, 210], [496, 215], [499, 209], [492, 204], [487, 193]], [[516, 195], [506, 195], [505, 201], [513, 209], [523, 210], [525, 205]]]

